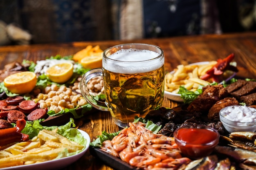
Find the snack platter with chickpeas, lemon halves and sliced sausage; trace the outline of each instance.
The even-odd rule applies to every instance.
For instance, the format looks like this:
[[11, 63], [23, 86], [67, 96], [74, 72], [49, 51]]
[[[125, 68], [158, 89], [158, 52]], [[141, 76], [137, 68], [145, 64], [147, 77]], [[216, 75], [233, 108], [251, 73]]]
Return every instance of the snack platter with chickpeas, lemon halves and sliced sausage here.
[[[97, 62], [100, 62], [102, 60], [101, 54], [102, 50], [99, 49], [99, 46], [88, 46], [73, 56], [61, 57], [56, 55], [55, 57], [49, 57], [36, 63], [24, 60], [22, 63], [13, 62], [7, 64], [0, 71], [0, 82], [2, 84], [2, 94], [0, 96], [1, 110], [8, 112], [7, 114], [10, 115], [13, 112], [11, 110], [12, 107], [14, 110], [18, 110], [15, 112], [22, 111], [25, 113], [25, 117], [28, 116], [28, 113], [35, 110], [37, 113], [34, 114], [34, 118], [30, 121], [44, 119], [41, 121], [41, 124], [45, 126], [63, 125], [69, 121], [69, 118], [78, 118], [92, 113], [94, 109], [82, 97], [81, 91], [79, 90], [79, 80], [81, 79], [81, 75], [91, 69], [90, 66], [93, 66], [94, 63], [90, 63], [92, 57], [97, 59]], [[89, 61], [81, 61], [83, 57]], [[89, 62], [90, 66], [86, 62]], [[98, 65], [95, 66], [99, 67]], [[16, 77], [19, 76], [27, 76], [27, 82], [14, 84], [12, 81], [16, 81]], [[33, 79], [31, 78], [30, 80], [29, 76], [33, 76]], [[36, 79], [37, 81], [35, 82]], [[28, 87], [29, 89], [27, 91], [23, 90]], [[101, 89], [93, 87], [90, 89], [93, 95], [101, 93]], [[97, 87], [102, 88], [102, 86]], [[8, 95], [6, 96], [6, 94]], [[13, 99], [13, 101], [15, 98], [19, 98], [20, 102], [18, 99], [16, 99], [15, 104], [14, 102], [5, 102], [9, 98]], [[22, 110], [22, 106], [26, 106], [26, 104], [22, 104], [24, 100], [29, 101], [31, 105], [34, 105], [34, 108], [31, 107], [25, 111]], [[4, 110], [2, 107], [8, 107], [9, 110]], [[43, 112], [47, 114], [43, 114]], [[19, 114], [22, 113], [19, 112]], [[7, 115], [5, 114], [4, 116]], [[24, 116], [22, 117], [24, 118]], [[13, 123], [15, 122], [13, 121]]]

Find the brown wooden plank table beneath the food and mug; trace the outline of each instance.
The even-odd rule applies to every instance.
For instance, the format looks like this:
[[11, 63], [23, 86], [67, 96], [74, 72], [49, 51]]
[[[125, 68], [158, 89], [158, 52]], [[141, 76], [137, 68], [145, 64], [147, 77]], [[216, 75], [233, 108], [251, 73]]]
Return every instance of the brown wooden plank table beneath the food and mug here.
[[[65, 44], [35, 44], [25, 46], [0, 47], [0, 69], [5, 64], [22, 60], [45, 60], [46, 57], [55, 55], [73, 55], [88, 45], [99, 45], [101, 49], [123, 43], [148, 43], [155, 44], [164, 50], [166, 72], [172, 71], [179, 64], [217, 60], [225, 58], [230, 53], [235, 54], [239, 72], [238, 77], [256, 79], [256, 32], [226, 34], [226, 35], [195, 35], [189, 37], [173, 37], [162, 39], [145, 39], [129, 41], [97, 41], [97, 42], [72, 42]], [[178, 103], [167, 98], [163, 106], [173, 108]], [[85, 115], [76, 120], [76, 126], [90, 135], [91, 141], [103, 130], [116, 132], [119, 127], [112, 121], [110, 113], [96, 110], [94, 114]], [[90, 152], [75, 163], [63, 170], [112, 170]]]

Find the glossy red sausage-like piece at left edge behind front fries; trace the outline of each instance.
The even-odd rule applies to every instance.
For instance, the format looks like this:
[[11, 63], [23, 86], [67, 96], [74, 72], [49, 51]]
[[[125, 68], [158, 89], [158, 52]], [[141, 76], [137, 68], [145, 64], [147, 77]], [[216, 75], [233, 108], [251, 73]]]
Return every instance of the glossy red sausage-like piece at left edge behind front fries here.
[[29, 140], [29, 135], [21, 133], [25, 125], [25, 119], [18, 119], [15, 127], [0, 129], [0, 146]]

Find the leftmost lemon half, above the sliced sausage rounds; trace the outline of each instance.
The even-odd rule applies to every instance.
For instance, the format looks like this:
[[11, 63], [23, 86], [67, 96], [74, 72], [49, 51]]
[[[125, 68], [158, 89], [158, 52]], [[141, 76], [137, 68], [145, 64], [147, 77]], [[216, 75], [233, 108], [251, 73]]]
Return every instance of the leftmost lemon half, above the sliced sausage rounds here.
[[4, 79], [4, 86], [11, 93], [29, 93], [36, 86], [36, 74], [31, 71], [23, 71], [9, 75]]

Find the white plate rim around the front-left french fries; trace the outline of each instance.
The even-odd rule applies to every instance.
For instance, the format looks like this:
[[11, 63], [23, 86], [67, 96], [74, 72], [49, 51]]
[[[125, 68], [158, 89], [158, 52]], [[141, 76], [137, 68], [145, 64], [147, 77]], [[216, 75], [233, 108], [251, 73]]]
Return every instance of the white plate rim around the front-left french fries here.
[[72, 155], [70, 157], [64, 157], [56, 160], [51, 160], [51, 161], [45, 161], [41, 163], [34, 163], [30, 165], [20, 165], [20, 166], [12, 166], [8, 168], [0, 168], [0, 170], [56, 170], [56, 169], [61, 169], [64, 168], [71, 163], [77, 161], [79, 158], [81, 158], [85, 152], [88, 150], [89, 145], [90, 145], [90, 137], [89, 135], [83, 131], [78, 129], [79, 132], [83, 135], [83, 137], [86, 139], [86, 146], [84, 150], [76, 155]]

